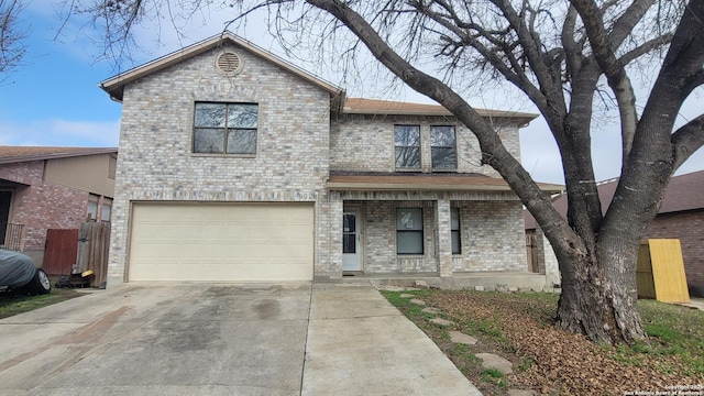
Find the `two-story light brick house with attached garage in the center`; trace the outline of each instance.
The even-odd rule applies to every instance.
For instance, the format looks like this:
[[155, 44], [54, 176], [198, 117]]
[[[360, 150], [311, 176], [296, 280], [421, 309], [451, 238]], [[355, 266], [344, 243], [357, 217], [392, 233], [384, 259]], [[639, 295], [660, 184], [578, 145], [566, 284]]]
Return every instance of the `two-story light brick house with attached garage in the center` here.
[[[101, 87], [122, 102], [109, 285], [546, 284], [527, 271], [520, 201], [440, 106], [345, 98], [230, 33]], [[536, 116], [483, 114], [518, 157]]]

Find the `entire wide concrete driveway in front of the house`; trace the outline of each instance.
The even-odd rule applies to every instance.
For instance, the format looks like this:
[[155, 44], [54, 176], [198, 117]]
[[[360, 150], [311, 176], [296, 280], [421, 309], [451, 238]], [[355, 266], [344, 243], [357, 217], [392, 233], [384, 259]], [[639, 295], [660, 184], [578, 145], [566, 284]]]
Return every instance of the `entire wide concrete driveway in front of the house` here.
[[371, 286], [129, 284], [0, 320], [2, 395], [481, 395]]

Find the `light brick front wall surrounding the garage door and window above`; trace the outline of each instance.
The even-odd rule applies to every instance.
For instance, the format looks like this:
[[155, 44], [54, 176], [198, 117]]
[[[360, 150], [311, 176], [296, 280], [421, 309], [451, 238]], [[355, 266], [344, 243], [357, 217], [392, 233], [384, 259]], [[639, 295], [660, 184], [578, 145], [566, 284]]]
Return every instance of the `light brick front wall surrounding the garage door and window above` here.
[[[109, 282], [121, 283], [133, 200], [316, 201], [317, 251], [327, 249], [330, 96], [244, 51], [235, 77], [213, 67], [218, 50], [125, 86]], [[191, 150], [196, 101], [258, 105], [256, 155], [204, 155]], [[316, 271], [327, 256], [316, 254]]]

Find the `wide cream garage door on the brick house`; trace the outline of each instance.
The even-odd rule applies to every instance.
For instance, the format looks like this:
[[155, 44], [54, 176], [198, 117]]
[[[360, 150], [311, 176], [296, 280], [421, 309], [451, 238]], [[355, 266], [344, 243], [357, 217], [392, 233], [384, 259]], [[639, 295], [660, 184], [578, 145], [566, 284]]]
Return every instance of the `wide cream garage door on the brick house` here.
[[134, 204], [130, 280], [311, 280], [314, 208]]

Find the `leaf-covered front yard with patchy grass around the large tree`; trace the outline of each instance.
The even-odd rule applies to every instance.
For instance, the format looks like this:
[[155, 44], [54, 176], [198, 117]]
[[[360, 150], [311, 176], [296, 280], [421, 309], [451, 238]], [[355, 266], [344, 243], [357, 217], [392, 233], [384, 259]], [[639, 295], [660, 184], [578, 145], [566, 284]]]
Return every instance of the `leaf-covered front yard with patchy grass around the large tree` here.
[[[553, 328], [556, 295], [414, 292], [454, 321], [457, 330], [480, 339], [476, 345], [458, 345], [449, 329], [428, 322], [431, 316], [399, 298], [400, 293], [384, 294], [486, 395], [505, 395], [510, 388], [547, 395], [656, 394], [673, 386], [704, 395], [703, 311], [640, 301], [649, 341], [612, 346]], [[487, 375], [474, 356], [481, 352], [508, 359], [514, 374]]]

